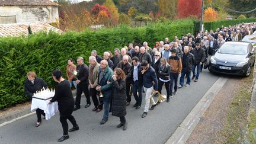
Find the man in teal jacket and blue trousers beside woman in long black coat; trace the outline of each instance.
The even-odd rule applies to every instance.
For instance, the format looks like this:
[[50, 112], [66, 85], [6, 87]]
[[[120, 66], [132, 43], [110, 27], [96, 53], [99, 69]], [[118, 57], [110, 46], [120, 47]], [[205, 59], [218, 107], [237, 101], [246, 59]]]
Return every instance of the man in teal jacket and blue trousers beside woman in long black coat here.
[[98, 75], [98, 86], [96, 87], [97, 91], [101, 91], [104, 97], [100, 98], [100, 108], [102, 109], [102, 104], [104, 103], [104, 114], [103, 119], [100, 124], [104, 124], [108, 120], [108, 113], [110, 109], [111, 102], [111, 91], [113, 86], [114, 72], [108, 67], [107, 60], [101, 60], [99, 75]]

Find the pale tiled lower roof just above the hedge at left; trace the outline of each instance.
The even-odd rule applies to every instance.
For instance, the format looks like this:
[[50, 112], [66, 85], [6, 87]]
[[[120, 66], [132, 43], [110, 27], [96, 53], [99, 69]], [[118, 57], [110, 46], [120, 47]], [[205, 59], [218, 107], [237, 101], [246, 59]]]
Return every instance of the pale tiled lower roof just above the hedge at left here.
[[0, 24], [0, 37], [7, 37], [7, 36], [21, 36], [24, 34], [28, 36], [28, 25], [31, 27], [32, 33], [39, 33], [40, 31], [47, 31], [50, 30], [55, 31], [56, 33], [62, 33], [62, 30], [53, 27], [50, 24], [37, 21], [37, 22], [30, 22], [30, 23], [17, 23], [17, 24]]

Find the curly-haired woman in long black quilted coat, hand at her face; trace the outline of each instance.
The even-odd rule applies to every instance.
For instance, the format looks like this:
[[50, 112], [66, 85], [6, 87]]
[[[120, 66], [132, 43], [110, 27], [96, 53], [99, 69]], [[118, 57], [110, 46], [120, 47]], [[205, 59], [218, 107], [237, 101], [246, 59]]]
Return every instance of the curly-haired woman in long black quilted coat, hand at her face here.
[[114, 69], [114, 85], [112, 97], [112, 115], [120, 118], [120, 124], [117, 128], [123, 126], [123, 130], [127, 129], [126, 115], [126, 75], [120, 68]]

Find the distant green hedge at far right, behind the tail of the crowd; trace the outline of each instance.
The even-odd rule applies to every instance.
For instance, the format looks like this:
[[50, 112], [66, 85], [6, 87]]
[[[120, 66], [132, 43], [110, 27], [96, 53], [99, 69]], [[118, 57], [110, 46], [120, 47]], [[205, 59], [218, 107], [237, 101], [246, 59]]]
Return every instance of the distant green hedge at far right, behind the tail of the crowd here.
[[222, 20], [222, 21], [213, 21], [213, 22], [206, 22], [204, 23], [204, 28], [205, 30], [213, 30], [215, 31], [217, 28], [222, 27], [224, 25], [225, 27], [229, 25], [236, 25], [236, 24], [241, 24], [241, 23], [256, 23], [256, 18], [247, 18], [243, 20]]

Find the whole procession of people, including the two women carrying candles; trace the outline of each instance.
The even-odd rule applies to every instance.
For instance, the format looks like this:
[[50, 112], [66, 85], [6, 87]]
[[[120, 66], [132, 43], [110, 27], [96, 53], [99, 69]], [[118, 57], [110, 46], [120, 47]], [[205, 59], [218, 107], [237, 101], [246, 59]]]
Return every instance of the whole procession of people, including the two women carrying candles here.
[[[58, 101], [60, 122], [64, 131], [58, 141], [68, 139], [68, 132], [79, 129], [72, 111], [81, 108], [82, 92], [87, 100], [85, 108], [91, 105], [90, 97], [92, 97], [94, 104], [92, 111], [98, 113], [104, 110], [100, 124], [107, 122], [108, 114], [111, 112], [113, 116], [120, 118], [117, 127], [126, 130], [126, 107], [131, 103], [132, 94], [136, 101], [133, 107], [139, 109], [142, 105], [142, 93], [145, 92], [142, 118], [146, 117], [148, 111], [153, 110], [158, 104], [155, 103], [152, 92], [161, 94], [165, 85], [167, 103], [169, 103], [169, 98], [177, 94], [178, 88], [189, 87], [191, 80], [199, 81], [200, 72], [208, 55], [214, 55], [226, 41], [241, 41], [242, 37], [252, 34], [255, 28], [256, 23], [251, 23], [217, 28], [215, 32], [213, 30], [200, 32], [196, 37], [188, 33], [181, 39], [175, 37], [171, 41], [168, 38], [165, 38], [165, 41], [156, 41], [153, 49], [146, 41], [141, 47], [134, 47], [130, 43], [128, 47], [114, 49], [114, 55], [110, 51], [104, 52], [103, 58], [97, 55], [96, 50], [92, 50], [89, 66], [84, 63], [83, 57], [77, 58], [77, 65], [72, 59], [68, 59], [66, 66], [68, 80], [63, 78], [63, 73], [59, 69], [52, 73], [53, 79], [59, 85], [56, 87], [55, 97], [49, 104]], [[78, 74], [74, 75], [74, 71]], [[36, 73], [28, 72], [27, 76], [25, 94], [30, 98], [35, 91], [47, 87], [42, 79], [36, 77]], [[76, 88], [75, 100], [71, 93], [72, 85]], [[44, 113], [40, 109], [36, 113], [38, 118], [36, 126], [39, 126], [41, 114]], [[72, 129], [68, 130], [67, 119], [73, 124]]]

